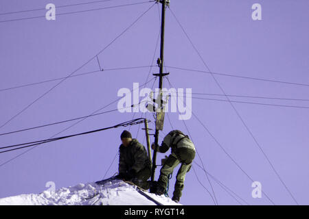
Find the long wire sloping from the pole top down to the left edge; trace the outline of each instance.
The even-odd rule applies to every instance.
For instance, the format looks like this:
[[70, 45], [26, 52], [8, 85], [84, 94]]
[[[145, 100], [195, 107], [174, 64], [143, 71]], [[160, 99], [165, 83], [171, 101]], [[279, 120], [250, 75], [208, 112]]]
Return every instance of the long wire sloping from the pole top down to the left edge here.
[[109, 44], [106, 45], [106, 47], [104, 47], [103, 49], [101, 49], [97, 54], [95, 54], [93, 57], [91, 57], [90, 60], [88, 60], [87, 62], [85, 62], [84, 64], [82, 64], [82, 66], [80, 66], [79, 68], [77, 68], [76, 70], [74, 70], [72, 73], [70, 73], [67, 77], [65, 77], [65, 79], [62, 79], [60, 82], [58, 82], [55, 86], [53, 86], [51, 89], [47, 90], [47, 92], [45, 92], [44, 94], [42, 94], [41, 96], [39, 96], [36, 100], [34, 100], [32, 103], [30, 103], [29, 105], [27, 105], [27, 107], [25, 107], [23, 110], [21, 110], [21, 112], [19, 112], [18, 114], [14, 115], [12, 118], [10, 118], [6, 123], [4, 123], [3, 125], [0, 126], [0, 129], [2, 127], [4, 127], [5, 125], [7, 125], [8, 123], [10, 123], [11, 120], [13, 120], [14, 118], [16, 118], [16, 116], [19, 116], [21, 113], [23, 113], [25, 110], [27, 110], [27, 108], [29, 108], [31, 105], [33, 105], [34, 103], [36, 103], [36, 101], [38, 101], [39, 99], [41, 99], [43, 96], [45, 96], [46, 94], [48, 94], [49, 92], [51, 92], [52, 90], [54, 90], [54, 88], [56, 88], [60, 83], [62, 83], [63, 81], [65, 81], [68, 77], [70, 77], [71, 75], [73, 75], [74, 73], [76, 73], [78, 70], [80, 70], [82, 67], [86, 66], [89, 62], [91, 62], [95, 57], [97, 57], [100, 53], [102, 53], [105, 49], [107, 49], [109, 46], [111, 46], [111, 44], [113, 44], [113, 42], [115, 42], [120, 36], [122, 36], [124, 33], [126, 33], [126, 31], [128, 31], [128, 29], [130, 29], [130, 27], [133, 27], [133, 25], [135, 25], [135, 23], [137, 23], [137, 21], [139, 21], [139, 19], [144, 16], [144, 14], [146, 14], [155, 4], [151, 5], [150, 8], [148, 8], [148, 10], [146, 10], [144, 13], [142, 13], [137, 19], [135, 19], [135, 21], [133, 23], [131, 23], [128, 27], [126, 27], [126, 29], [124, 29], [124, 31], [122, 31], [121, 34], [119, 34], [114, 40], [112, 40]]

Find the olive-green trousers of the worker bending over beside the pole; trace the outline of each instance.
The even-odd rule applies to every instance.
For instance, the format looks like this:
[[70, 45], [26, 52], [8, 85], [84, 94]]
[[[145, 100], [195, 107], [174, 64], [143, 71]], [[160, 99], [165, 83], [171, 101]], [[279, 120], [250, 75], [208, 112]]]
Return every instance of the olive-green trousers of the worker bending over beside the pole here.
[[176, 175], [176, 183], [174, 186], [174, 193], [173, 193], [174, 196], [180, 198], [184, 186], [185, 174], [189, 172], [194, 157], [195, 157], [195, 151], [191, 149], [181, 149], [177, 150], [176, 153], [171, 153], [160, 170], [158, 187], [166, 190], [168, 186], [168, 175], [172, 174], [174, 168], [176, 168], [176, 166], [181, 164], [181, 167], [179, 168]]

